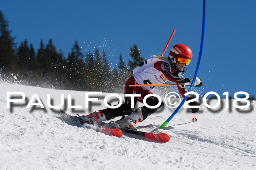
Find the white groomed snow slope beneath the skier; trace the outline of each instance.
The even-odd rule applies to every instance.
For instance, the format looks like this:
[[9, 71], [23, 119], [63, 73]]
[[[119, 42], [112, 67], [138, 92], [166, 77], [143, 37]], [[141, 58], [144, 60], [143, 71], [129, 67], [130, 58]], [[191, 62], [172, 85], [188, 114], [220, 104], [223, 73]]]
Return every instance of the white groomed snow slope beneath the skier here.
[[[163, 107], [136, 124], [138, 130], [170, 135], [168, 143], [157, 143], [74, 126], [57, 118], [58, 110], [47, 106], [47, 94], [54, 106], [60, 104], [60, 95], [64, 94], [64, 111], [86, 115], [106, 108], [103, 99], [108, 94], [95, 95], [99, 101], [89, 102], [86, 109], [82, 91], [6, 82], [0, 82], [0, 87], [0, 169], [256, 169], [256, 101], [250, 101], [249, 108], [237, 109], [232, 105], [225, 108], [222, 99], [219, 108], [209, 109], [200, 100], [197, 122], [191, 122], [193, 114], [183, 108], [159, 129], [174, 111]], [[7, 91], [24, 92], [26, 101], [7, 108]], [[44, 109], [26, 108], [33, 94], [39, 96]], [[82, 108], [68, 109], [68, 94], [72, 104]], [[208, 104], [214, 103], [208, 100]]]

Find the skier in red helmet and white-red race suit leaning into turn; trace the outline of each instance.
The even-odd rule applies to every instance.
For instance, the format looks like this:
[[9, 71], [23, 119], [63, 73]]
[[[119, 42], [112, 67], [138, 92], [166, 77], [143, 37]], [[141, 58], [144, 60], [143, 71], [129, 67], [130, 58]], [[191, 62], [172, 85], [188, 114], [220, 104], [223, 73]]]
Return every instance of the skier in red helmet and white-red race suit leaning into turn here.
[[[189, 65], [192, 59], [192, 51], [188, 46], [183, 44], [177, 44], [173, 46], [169, 53], [169, 57], [155, 56], [154, 58], [145, 60], [140, 63], [134, 70], [133, 75], [127, 80], [125, 84], [162, 84], [167, 81], [174, 83], [186, 83], [190, 86], [192, 79], [183, 78], [187, 69], [186, 66]], [[196, 78], [194, 86], [200, 87], [203, 82], [199, 78]], [[178, 85], [178, 91], [184, 98], [184, 94], [188, 91], [184, 85]], [[137, 101], [143, 103], [143, 98], [152, 94], [151, 90], [154, 86], [143, 86], [143, 87], [128, 87], [124, 89], [124, 94], [140, 94], [140, 97], [134, 98], [134, 107]], [[191, 100], [191, 96], [188, 96], [187, 100]], [[79, 116], [80, 119], [94, 124], [105, 120], [110, 120], [117, 116], [123, 116], [117, 123], [124, 128], [136, 130], [135, 124], [142, 122], [147, 118], [147, 116], [153, 114], [159, 108], [163, 106], [163, 102], [157, 108], [148, 108], [146, 106], [139, 107], [136, 110], [132, 108], [131, 97], [125, 97], [125, 103], [118, 108], [106, 108], [99, 110], [98, 112], [93, 112], [86, 116]], [[146, 103], [149, 106], [155, 106], [158, 104], [158, 98], [151, 96], [147, 98]], [[200, 106], [198, 102], [190, 102], [189, 105]], [[195, 113], [199, 108], [191, 108], [192, 113]], [[128, 115], [125, 117], [125, 115]]]

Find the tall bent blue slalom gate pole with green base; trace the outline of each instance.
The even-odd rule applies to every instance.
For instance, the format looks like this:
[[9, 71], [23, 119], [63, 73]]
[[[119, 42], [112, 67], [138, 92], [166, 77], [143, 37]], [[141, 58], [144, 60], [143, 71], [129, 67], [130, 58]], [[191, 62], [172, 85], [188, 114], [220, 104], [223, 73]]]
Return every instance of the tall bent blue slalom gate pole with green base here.
[[[203, 52], [203, 44], [204, 44], [205, 11], [206, 11], [206, 0], [203, 1], [203, 24], [202, 24], [202, 35], [201, 35], [201, 45], [200, 45], [199, 57], [198, 57], [198, 61], [197, 61], [195, 75], [194, 75], [194, 78], [191, 82], [191, 85], [189, 87], [188, 92], [192, 89], [192, 87], [193, 87], [193, 85], [196, 81], [196, 77], [197, 77], [197, 74], [198, 74], [198, 71], [199, 71], [199, 66], [200, 66], [200, 63], [201, 63], [202, 52]], [[185, 103], [187, 98], [188, 98], [188, 96], [184, 97], [184, 99], [181, 101], [180, 105], [176, 108], [176, 110], [173, 112], [173, 114], [160, 126], [160, 129], [163, 129], [163, 127], [165, 127], [166, 124], [168, 124], [170, 122], [170, 120], [174, 117], [174, 115], [176, 115], [176, 113], [183, 106], [183, 104]]]

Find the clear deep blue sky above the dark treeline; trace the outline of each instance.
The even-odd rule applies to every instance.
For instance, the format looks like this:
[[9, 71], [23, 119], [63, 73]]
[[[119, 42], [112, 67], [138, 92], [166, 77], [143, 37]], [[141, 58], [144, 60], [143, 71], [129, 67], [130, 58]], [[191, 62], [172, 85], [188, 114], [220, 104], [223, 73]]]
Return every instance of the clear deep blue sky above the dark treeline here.
[[[209, 91], [255, 92], [256, 2], [238, 0], [206, 1], [206, 29], [202, 62], [198, 77]], [[193, 60], [184, 77], [195, 73], [202, 31], [203, 0], [163, 1], [1, 1], [0, 10], [9, 21], [18, 45], [28, 40], [39, 48], [40, 40], [52, 38], [64, 55], [75, 40], [86, 54], [106, 50], [112, 68], [122, 54], [127, 63], [129, 50], [136, 44], [144, 59], [161, 55], [173, 29], [176, 33], [167, 49], [185, 44], [193, 51]], [[121, 85], [121, 84], [120, 84]]]

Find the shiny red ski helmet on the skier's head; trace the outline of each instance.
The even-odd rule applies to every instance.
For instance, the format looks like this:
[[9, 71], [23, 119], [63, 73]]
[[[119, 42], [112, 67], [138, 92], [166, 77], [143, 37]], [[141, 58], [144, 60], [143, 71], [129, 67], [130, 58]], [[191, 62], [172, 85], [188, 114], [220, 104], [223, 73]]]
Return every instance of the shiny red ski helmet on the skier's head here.
[[[174, 58], [178, 58], [178, 55], [185, 56], [189, 59], [192, 59], [193, 53], [192, 50], [183, 44], [177, 44], [173, 46], [172, 50], [170, 51], [169, 55], [173, 56]], [[170, 57], [170, 56], [169, 56]]]

